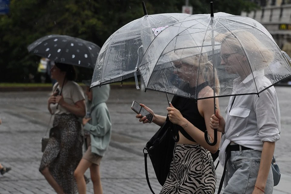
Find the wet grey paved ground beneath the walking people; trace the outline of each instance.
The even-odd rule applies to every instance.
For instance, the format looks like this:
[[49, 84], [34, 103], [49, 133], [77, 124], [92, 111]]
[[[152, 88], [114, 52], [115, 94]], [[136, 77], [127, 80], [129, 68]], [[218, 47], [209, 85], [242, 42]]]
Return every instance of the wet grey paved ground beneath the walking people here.
[[[273, 193], [287, 194], [291, 193], [291, 87], [277, 86], [276, 91], [281, 111], [281, 139], [276, 143], [275, 157], [282, 176]], [[42, 157], [40, 140], [50, 118], [46, 104], [48, 97], [49, 92], [0, 92], [0, 118], [3, 122], [0, 125], [0, 162], [12, 167], [10, 172], [0, 176], [0, 194], [55, 193], [38, 171]], [[228, 99], [219, 99], [221, 110], [226, 108]], [[107, 105], [112, 118], [112, 140], [100, 166], [105, 194], [151, 193], [145, 178], [142, 149], [159, 127], [138, 122], [130, 109], [133, 100], [148, 105], [156, 114], [166, 115], [164, 93], [111, 90]], [[159, 193], [161, 186], [150, 160], [148, 170], [152, 188]], [[86, 175], [90, 177], [89, 171]], [[219, 166], [217, 182], [221, 175], [222, 167]], [[90, 182], [87, 193], [92, 194], [92, 188]]]

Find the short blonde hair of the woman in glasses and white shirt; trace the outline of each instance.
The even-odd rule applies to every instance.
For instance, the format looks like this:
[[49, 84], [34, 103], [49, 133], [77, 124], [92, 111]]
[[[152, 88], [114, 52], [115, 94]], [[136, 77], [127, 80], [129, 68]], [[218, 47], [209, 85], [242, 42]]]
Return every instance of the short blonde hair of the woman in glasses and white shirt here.
[[244, 51], [248, 55], [251, 55], [256, 62], [250, 65], [255, 70], [268, 67], [274, 59], [273, 52], [266, 48], [258, 38], [248, 31], [235, 30], [231, 33], [221, 33], [215, 39], [221, 42], [221, 44], [227, 44], [232, 49], [236, 49], [235, 52]]

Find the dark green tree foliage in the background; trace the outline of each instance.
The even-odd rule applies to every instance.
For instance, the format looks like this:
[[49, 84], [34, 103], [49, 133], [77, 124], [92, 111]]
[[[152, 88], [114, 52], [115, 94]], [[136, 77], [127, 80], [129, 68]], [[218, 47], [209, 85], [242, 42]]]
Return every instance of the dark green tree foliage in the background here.
[[[145, 0], [148, 14], [181, 12], [184, 0]], [[189, 0], [193, 12], [209, 13], [209, 1]], [[248, 0], [214, 1], [215, 12], [239, 15], [254, 5]], [[126, 23], [144, 15], [141, 0], [11, 0], [0, 15], [0, 82], [28, 82], [37, 74], [39, 57], [26, 47], [49, 34], [92, 41], [100, 47]], [[88, 72], [80, 70], [81, 72]]]

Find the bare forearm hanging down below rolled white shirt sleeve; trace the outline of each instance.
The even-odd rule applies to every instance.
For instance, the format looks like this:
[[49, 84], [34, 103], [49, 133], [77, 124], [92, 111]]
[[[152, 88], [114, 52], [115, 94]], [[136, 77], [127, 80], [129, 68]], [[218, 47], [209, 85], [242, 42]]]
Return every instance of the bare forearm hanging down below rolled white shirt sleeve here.
[[275, 150], [275, 142], [264, 142], [263, 151], [261, 155], [260, 168], [256, 180], [256, 186], [260, 189], [265, 190], [266, 182], [269, 175], [269, 170], [271, 168], [271, 162], [273, 159], [273, 154]]

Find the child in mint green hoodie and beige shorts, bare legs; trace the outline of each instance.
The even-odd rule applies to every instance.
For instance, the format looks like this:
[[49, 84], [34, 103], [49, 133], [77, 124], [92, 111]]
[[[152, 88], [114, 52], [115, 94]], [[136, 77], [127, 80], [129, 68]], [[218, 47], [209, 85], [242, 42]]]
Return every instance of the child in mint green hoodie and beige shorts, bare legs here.
[[102, 85], [90, 89], [91, 81], [84, 82], [85, 94], [88, 96], [87, 112], [91, 112], [91, 118], [83, 118], [87, 151], [83, 155], [77, 169], [74, 172], [78, 184], [79, 194], [86, 193], [84, 173], [90, 168], [94, 194], [102, 194], [100, 178], [100, 161], [107, 150], [111, 136], [111, 119], [106, 105], [109, 98], [110, 86]]

